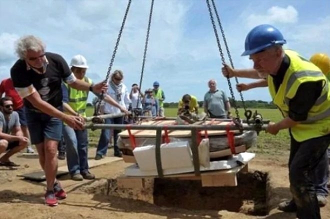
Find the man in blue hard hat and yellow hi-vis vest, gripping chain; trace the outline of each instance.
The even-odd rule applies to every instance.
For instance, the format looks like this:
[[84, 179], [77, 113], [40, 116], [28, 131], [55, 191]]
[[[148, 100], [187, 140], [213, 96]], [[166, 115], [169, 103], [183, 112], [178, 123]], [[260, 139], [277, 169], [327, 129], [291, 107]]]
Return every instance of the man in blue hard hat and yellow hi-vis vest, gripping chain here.
[[273, 102], [284, 117], [277, 123], [269, 123], [266, 132], [277, 134], [280, 129], [289, 128], [291, 138], [289, 181], [293, 199], [280, 203], [279, 209], [296, 210], [300, 219], [320, 218], [315, 184], [317, 172], [328, 168], [329, 82], [314, 64], [294, 51], [284, 51], [284, 43], [278, 29], [268, 24], [258, 25], [247, 34], [242, 53], [249, 55], [253, 69], [240, 70], [239, 75], [230, 75], [228, 69], [222, 69], [222, 73], [266, 78]]

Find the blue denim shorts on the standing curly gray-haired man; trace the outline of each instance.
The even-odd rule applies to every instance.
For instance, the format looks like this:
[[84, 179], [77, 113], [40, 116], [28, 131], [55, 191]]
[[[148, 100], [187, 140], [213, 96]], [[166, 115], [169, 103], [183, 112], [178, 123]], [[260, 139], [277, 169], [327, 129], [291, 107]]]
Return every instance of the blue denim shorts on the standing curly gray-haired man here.
[[61, 140], [63, 122], [58, 118], [29, 108], [26, 108], [26, 118], [32, 144], [42, 143], [45, 138]]

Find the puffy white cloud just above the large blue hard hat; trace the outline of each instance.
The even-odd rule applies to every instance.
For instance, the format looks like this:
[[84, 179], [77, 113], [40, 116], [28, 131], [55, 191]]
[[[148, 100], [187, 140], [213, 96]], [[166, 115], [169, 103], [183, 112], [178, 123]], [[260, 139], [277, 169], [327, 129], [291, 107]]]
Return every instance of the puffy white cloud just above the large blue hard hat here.
[[265, 14], [250, 14], [247, 25], [254, 27], [261, 23], [295, 23], [298, 21], [298, 11], [291, 5], [285, 7], [272, 6]]

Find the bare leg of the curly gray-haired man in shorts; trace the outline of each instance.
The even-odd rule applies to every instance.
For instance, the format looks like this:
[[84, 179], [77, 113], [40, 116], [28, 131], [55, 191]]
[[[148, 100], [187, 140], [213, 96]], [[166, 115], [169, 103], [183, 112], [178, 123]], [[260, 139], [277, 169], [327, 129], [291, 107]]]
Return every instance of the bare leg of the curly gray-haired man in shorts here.
[[57, 144], [58, 141], [44, 140], [44, 174], [46, 176], [47, 190], [53, 190], [57, 171]]

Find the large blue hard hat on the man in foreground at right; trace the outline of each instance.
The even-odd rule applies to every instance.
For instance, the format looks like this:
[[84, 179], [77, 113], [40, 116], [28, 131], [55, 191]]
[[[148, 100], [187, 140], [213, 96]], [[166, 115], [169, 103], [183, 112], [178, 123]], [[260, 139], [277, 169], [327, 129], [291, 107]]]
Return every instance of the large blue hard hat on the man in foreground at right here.
[[282, 33], [269, 24], [261, 24], [251, 29], [245, 38], [245, 51], [241, 55], [257, 53], [276, 44], [285, 44]]

